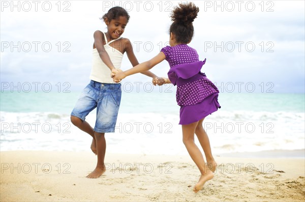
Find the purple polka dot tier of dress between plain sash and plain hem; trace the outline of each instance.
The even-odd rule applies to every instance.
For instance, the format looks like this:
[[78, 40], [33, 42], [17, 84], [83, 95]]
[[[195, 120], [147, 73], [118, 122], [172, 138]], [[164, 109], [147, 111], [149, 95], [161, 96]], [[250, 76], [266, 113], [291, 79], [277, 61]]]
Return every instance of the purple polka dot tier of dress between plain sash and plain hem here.
[[206, 77], [177, 87], [176, 100], [179, 106], [195, 105], [213, 93], [217, 87]]

